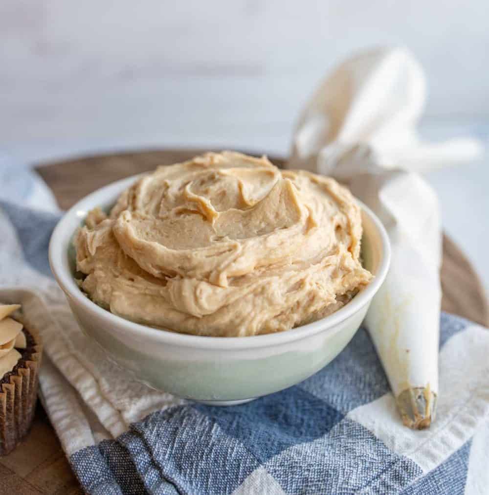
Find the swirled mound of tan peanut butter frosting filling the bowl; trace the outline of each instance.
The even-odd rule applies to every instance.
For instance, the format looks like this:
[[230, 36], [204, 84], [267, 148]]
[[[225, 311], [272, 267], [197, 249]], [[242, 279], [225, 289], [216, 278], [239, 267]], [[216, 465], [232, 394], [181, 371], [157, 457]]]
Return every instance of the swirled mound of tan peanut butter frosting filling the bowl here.
[[361, 211], [335, 180], [225, 151], [158, 167], [75, 239], [82, 290], [112, 313], [204, 336], [322, 318], [371, 279]]

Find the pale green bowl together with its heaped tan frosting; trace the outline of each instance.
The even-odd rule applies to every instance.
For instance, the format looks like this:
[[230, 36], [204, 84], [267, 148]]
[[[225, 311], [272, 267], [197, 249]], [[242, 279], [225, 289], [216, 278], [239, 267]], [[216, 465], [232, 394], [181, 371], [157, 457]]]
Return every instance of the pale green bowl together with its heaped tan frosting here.
[[292, 386], [338, 355], [390, 247], [334, 179], [224, 151], [82, 199], [56, 226], [49, 261], [109, 359], [219, 405]]

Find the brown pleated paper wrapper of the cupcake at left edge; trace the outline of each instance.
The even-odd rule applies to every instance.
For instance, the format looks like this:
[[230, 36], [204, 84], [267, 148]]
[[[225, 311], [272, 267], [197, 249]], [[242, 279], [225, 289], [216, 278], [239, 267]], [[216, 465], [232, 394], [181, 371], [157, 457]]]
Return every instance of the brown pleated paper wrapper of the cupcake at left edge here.
[[8, 383], [0, 385], [0, 456], [15, 448], [34, 417], [43, 346], [35, 328], [30, 325], [26, 330], [35, 342], [33, 352], [29, 359], [20, 359]]

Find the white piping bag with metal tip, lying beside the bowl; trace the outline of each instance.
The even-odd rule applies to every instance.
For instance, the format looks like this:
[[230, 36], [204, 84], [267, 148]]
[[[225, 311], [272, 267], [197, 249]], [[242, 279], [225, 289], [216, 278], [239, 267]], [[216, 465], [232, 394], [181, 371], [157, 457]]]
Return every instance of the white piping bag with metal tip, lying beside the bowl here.
[[423, 142], [416, 129], [426, 79], [403, 48], [373, 49], [339, 65], [299, 117], [287, 168], [329, 175], [381, 219], [391, 268], [365, 318], [403, 423], [435, 419], [440, 334], [441, 223], [418, 173], [482, 154], [473, 139]]

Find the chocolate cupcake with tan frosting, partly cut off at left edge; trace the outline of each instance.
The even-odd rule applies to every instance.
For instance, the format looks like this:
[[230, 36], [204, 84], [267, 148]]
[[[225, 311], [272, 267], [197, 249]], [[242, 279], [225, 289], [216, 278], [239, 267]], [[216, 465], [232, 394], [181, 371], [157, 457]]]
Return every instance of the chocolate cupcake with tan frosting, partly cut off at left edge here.
[[20, 304], [0, 304], [0, 456], [25, 436], [34, 416], [42, 346]]

